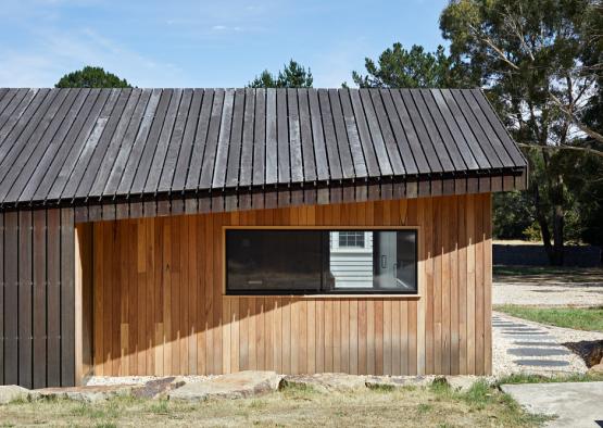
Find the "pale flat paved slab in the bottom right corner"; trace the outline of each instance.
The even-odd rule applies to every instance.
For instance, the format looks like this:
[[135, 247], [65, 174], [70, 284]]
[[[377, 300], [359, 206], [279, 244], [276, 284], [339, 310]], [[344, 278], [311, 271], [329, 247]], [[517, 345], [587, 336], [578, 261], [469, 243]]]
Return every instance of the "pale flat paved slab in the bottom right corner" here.
[[557, 416], [549, 427], [603, 425], [603, 382], [502, 385], [528, 412]]

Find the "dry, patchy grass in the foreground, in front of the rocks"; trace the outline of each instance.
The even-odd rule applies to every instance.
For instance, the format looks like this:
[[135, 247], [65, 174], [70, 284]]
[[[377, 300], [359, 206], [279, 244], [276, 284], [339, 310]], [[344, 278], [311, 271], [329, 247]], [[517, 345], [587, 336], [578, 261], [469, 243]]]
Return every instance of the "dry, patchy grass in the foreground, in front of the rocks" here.
[[83, 404], [70, 400], [0, 406], [5, 426], [445, 426], [535, 427], [548, 420], [526, 413], [486, 382], [467, 392], [444, 382], [429, 388], [321, 392], [287, 387], [244, 400], [202, 403], [113, 398]]

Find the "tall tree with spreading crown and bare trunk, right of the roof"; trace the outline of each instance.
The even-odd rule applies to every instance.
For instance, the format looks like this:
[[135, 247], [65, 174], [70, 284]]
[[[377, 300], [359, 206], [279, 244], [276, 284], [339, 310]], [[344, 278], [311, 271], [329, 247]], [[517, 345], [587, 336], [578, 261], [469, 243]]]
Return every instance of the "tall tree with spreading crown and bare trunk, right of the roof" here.
[[563, 264], [565, 213], [574, 204], [558, 149], [603, 156], [592, 144], [601, 135], [581, 118], [601, 70], [600, 61], [583, 62], [600, 49], [593, 38], [601, 33], [593, 28], [595, 2], [453, 0], [440, 16], [451, 59], [479, 79], [526, 148], [529, 194], [554, 265]]

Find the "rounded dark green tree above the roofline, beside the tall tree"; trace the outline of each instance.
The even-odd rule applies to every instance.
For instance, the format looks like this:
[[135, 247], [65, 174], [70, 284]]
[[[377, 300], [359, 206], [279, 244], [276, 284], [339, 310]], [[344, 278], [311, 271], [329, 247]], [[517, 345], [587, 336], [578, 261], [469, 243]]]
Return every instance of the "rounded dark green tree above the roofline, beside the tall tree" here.
[[[435, 52], [426, 52], [413, 45], [405, 50], [401, 43], [386, 49], [377, 61], [364, 60], [366, 74], [352, 72], [352, 79], [361, 88], [450, 88], [472, 86], [461, 67], [438, 46]], [[474, 85], [475, 86], [475, 85]]]

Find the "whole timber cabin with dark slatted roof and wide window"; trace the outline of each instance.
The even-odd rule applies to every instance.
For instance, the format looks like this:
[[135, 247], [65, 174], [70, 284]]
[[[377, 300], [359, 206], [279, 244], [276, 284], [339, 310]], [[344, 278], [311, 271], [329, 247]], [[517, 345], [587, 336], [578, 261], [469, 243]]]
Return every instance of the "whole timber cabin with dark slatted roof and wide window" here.
[[478, 89], [0, 89], [0, 383], [491, 373]]

